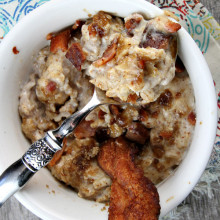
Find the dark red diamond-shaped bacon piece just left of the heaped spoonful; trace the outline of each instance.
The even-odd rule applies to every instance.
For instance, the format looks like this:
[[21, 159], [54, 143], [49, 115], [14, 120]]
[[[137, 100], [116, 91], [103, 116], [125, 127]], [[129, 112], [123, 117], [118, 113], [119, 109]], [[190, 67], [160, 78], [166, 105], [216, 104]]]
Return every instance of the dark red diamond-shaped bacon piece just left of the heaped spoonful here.
[[72, 43], [66, 53], [66, 58], [76, 67], [77, 70], [81, 70], [81, 66], [86, 60], [86, 55], [83, 52], [80, 43]]

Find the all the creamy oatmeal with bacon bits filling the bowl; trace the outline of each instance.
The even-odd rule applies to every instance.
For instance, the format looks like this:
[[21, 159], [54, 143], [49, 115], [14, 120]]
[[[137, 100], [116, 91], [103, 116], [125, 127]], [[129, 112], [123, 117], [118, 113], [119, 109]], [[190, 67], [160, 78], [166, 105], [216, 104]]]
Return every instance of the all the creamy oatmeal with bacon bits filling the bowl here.
[[106, 141], [126, 139], [135, 164], [154, 184], [180, 164], [196, 115], [193, 89], [177, 56], [179, 24], [140, 14], [125, 19], [99, 12], [56, 34], [34, 58], [20, 94], [22, 130], [31, 141], [81, 109], [93, 86], [106, 96], [138, 105], [105, 105], [65, 138], [49, 163], [53, 176], [80, 197], [108, 201], [111, 178], [97, 156]]

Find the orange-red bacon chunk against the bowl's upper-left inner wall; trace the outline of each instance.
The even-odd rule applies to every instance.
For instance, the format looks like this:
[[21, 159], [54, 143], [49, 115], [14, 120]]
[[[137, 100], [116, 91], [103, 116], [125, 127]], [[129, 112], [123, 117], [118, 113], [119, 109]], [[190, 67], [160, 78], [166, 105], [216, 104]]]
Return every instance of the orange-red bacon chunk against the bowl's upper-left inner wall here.
[[51, 53], [56, 53], [58, 50], [62, 50], [63, 52], [67, 51], [68, 42], [70, 39], [69, 29], [62, 31], [55, 36], [52, 36], [50, 34], [47, 35], [47, 39], [49, 39], [49, 37], [51, 37], [51, 42], [50, 42]]

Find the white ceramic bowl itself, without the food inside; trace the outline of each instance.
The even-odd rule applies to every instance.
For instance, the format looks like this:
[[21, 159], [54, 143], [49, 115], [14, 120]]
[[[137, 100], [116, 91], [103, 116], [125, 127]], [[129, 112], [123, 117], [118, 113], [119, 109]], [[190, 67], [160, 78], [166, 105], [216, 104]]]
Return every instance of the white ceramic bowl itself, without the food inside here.
[[[29, 142], [21, 132], [18, 115], [20, 83], [27, 79], [32, 55], [47, 44], [45, 36], [88, 13], [99, 10], [127, 16], [141, 12], [148, 17], [162, 11], [144, 0], [53, 0], [21, 20], [0, 45], [0, 171], [23, 155]], [[12, 48], [20, 51], [14, 55]], [[192, 144], [175, 174], [158, 186], [161, 216], [177, 206], [193, 189], [208, 162], [214, 143], [217, 107], [213, 80], [200, 50], [182, 28], [179, 55], [190, 75], [196, 98], [197, 123]], [[46, 187], [49, 185], [49, 188]], [[55, 191], [55, 193], [52, 192]], [[16, 198], [43, 219], [103, 220], [102, 204], [80, 199], [74, 191], [61, 187], [47, 169], [40, 170], [18, 192]]]

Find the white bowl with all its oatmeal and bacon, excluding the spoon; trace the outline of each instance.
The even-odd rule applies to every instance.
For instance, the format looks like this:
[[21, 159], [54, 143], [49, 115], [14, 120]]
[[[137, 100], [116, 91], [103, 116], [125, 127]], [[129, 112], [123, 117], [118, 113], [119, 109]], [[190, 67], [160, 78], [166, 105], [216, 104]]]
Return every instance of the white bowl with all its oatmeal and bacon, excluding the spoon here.
[[166, 15], [142, 0], [54, 0], [2, 41], [1, 172], [94, 89], [112, 100], [15, 194], [42, 219], [157, 219], [198, 182], [215, 138], [215, 89], [195, 42]]

